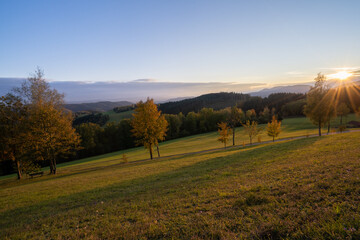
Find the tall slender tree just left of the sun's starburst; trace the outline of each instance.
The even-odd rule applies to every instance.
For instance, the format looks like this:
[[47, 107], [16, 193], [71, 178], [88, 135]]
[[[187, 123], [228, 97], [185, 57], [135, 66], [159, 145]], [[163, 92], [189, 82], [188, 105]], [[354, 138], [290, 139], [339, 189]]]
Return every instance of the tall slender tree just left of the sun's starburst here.
[[305, 115], [318, 126], [319, 136], [321, 136], [321, 128], [330, 122], [334, 116], [334, 106], [329, 104], [330, 95], [329, 86], [326, 83], [325, 75], [318, 73], [315, 80], [315, 86], [311, 87], [307, 93], [306, 105], [304, 107]]

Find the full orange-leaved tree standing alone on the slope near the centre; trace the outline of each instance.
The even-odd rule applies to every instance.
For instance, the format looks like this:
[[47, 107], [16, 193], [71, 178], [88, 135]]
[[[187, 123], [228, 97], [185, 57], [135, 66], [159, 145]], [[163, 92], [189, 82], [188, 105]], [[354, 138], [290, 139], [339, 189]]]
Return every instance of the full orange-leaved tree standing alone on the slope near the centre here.
[[148, 98], [146, 102], [140, 101], [136, 104], [131, 126], [134, 137], [138, 139], [137, 144], [144, 145], [150, 152], [150, 159], [153, 159], [153, 148], [157, 147], [159, 150], [159, 141], [165, 139], [168, 126], [153, 99]]

